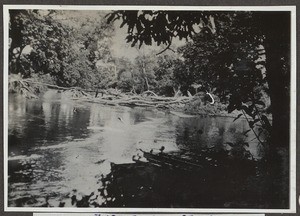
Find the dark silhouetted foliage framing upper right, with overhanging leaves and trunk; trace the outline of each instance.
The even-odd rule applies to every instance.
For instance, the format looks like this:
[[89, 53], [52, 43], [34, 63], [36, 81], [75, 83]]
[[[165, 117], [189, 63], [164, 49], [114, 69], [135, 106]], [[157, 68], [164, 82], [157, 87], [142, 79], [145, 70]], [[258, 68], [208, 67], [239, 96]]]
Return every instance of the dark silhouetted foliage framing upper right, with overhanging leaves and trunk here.
[[[257, 108], [263, 105], [261, 92], [267, 88], [265, 92], [270, 95], [273, 116], [270, 132], [278, 138], [273, 141], [279, 146], [288, 144], [288, 130], [282, 132], [280, 127], [284, 124], [288, 128], [289, 122], [286, 115], [288, 13], [114, 11], [107, 17], [108, 22], [121, 19], [121, 27], [127, 25], [127, 42], [132, 46], [155, 42], [164, 43], [168, 48], [173, 38], [192, 38], [193, 42], [182, 50], [188, 66], [182, 78], [193, 77], [201, 82], [197, 84], [204, 84], [209, 90], [216, 87], [221, 98], [230, 97], [229, 112], [243, 110], [252, 118], [249, 120], [251, 128], [261, 122], [261, 126], [270, 131], [270, 123], [263, 120], [267, 118]], [[200, 34], [195, 35], [197, 30]], [[282, 138], [278, 136], [280, 132], [284, 134]]]

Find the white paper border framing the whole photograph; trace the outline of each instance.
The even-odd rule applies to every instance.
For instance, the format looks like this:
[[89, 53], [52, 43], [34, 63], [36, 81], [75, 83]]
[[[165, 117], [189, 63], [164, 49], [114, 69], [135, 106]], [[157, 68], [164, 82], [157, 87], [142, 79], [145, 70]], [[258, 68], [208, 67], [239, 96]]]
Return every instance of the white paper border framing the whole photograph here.
[[[289, 11], [291, 12], [291, 80], [290, 80], [290, 199], [289, 209], [228, 208], [41, 208], [8, 206], [8, 48], [10, 9], [53, 10], [180, 10], [180, 11]], [[105, 212], [105, 213], [296, 213], [296, 6], [138, 6], [138, 5], [3, 5], [3, 170], [4, 211], [7, 212]]]

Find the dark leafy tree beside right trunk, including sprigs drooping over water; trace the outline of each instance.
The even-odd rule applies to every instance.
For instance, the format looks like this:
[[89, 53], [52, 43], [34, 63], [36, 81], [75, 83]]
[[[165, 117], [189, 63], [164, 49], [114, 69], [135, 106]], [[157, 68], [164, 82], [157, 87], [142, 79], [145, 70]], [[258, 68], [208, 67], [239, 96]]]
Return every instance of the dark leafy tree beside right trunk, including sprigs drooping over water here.
[[[193, 41], [180, 48], [185, 58], [188, 74], [206, 91], [215, 89], [225, 103], [228, 112], [241, 110], [249, 127], [260, 123], [259, 135], [263, 130], [271, 131], [266, 115], [261, 111], [267, 107], [262, 101], [263, 91], [268, 91], [265, 70], [265, 51], [262, 38], [251, 38], [251, 26], [241, 26], [249, 21], [251, 14], [236, 13], [220, 15], [216, 32], [203, 31], [193, 36]], [[229, 98], [229, 99], [228, 99]], [[259, 110], [259, 108], [261, 108]], [[247, 114], [247, 116], [246, 116]]]

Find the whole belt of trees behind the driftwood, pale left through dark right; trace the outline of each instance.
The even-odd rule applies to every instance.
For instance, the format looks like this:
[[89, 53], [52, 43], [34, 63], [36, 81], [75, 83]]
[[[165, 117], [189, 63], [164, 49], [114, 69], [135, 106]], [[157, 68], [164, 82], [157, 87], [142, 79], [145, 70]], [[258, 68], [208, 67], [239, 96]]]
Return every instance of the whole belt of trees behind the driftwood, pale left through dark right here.
[[[98, 20], [75, 15], [64, 11], [11, 11], [10, 73], [83, 89], [118, 88], [138, 94], [151, 90], [164, 96], [174, 96], [178, 91], [183, 95], [208, 91], [222, 101], [228, 101], [237, 88], [244, 98], [252, 97], [249, 94], [253, 92], [259, 100], [268, 88], [262, 85], [266, 83], [263, 44], [250, 38], [252, 28], [238, 26], [248, 22], [251, 14], [221, 14], [217, 27], [212, 23], [217, 31], [210, 26], [200, 31], [199, 27], [197, 34], [179, 36], [187, 38], [186, 45], [178, 50], [168, 46], [161, 54], [154, 50], [145, 53], [139, 50], [142, 44], [134, 41], [132, 46], [139, 52], [134, 59], [113, 56], [110, 44], [115, 26], [107, 23], [103, 12], [99, 12]], [[132, 36], [126, 40], [131, 42]], [[157, 45], [164, 51], [166, 45]]]

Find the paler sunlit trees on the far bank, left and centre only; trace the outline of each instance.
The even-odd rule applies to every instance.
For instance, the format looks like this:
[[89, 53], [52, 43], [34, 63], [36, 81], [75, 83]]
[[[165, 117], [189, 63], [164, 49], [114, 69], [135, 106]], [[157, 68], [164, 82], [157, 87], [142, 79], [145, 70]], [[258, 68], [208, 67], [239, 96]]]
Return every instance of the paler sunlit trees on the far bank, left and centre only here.
[[104, 15], [99, 12], [92, 20], [79, 19], [74, 11], [12, 11], [10, 73], [62, 87], [138, 94], [153, 90], [173, 96], [173, 88], [182, 84], [181, 71], [172, 70], [180, 65], [179, 54], [139, 51], [134, 59], [113, 56], [114, 25]]

